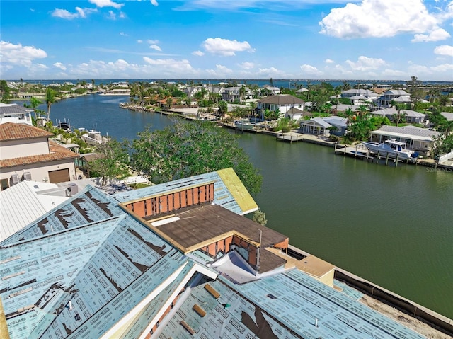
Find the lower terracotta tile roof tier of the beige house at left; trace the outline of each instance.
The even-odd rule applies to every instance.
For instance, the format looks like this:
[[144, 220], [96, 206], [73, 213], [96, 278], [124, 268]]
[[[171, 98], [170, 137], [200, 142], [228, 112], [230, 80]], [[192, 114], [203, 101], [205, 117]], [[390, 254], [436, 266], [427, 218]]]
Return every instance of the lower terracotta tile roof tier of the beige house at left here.
[[35, 156], [23, 156], [21, 158], [1, 159], [0, 168], [28, 165], [31, 163], [45, 163], [56, 160], [74, 159], [79, 157], [79, 154], [76, 154], [73, 151], [69, 151], [69, 149], [60, 146], [52, 140], [49, 140], [49, 146], [50, 154], [39, 154]]

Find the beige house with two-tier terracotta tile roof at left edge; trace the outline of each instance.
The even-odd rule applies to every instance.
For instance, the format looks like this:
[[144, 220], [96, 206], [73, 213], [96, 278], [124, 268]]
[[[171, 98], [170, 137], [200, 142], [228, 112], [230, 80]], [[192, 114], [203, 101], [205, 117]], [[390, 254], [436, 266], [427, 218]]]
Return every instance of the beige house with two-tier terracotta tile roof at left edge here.
[[50, 139], [38, 127], [6, 122], [0, 125], [1, 189], [23, 180], [62, 183], [76, 178], [76, 154]]

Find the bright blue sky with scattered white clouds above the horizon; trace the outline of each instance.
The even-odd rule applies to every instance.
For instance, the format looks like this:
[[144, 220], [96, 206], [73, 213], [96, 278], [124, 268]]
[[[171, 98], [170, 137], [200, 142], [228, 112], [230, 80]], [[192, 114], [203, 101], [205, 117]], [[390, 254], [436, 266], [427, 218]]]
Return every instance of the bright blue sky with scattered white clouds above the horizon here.
[[1, 79], [453, 81], [453, 0], [0, 2]]

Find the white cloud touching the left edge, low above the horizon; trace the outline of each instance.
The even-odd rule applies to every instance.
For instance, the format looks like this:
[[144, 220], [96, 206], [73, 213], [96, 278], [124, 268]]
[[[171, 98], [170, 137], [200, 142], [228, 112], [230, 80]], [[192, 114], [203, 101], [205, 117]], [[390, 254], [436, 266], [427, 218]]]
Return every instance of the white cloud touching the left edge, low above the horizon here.
[[33, 46], [14, 45], [11, 42], [0, 42], [0, 59], [2, 64], [18, 64], [30, 67], [34, 59], [47, 57], [47, 53]]

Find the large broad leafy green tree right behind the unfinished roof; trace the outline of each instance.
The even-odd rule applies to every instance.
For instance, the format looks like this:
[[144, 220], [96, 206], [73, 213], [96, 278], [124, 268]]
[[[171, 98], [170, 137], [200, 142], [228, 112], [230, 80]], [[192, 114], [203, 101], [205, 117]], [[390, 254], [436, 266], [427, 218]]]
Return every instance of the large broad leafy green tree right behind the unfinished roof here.
[[164, 130], [148, 128], [132, 142], [134, 169], [154, 183], [163, 183], [231, 167], [248, 192], [258, 193], [263, 178], [237, 139], [202, 121], [176, 122]]

